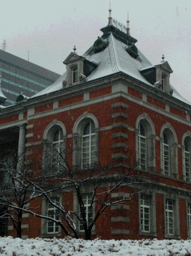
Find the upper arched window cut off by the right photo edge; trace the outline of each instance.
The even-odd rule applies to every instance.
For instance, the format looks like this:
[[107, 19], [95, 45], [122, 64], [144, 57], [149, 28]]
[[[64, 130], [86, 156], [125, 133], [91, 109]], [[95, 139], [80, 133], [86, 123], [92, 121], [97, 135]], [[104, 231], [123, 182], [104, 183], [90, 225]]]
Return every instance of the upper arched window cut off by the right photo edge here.
[[190, 148], [191, 148], [191, 143], [190, 143], [190, 137], [186, 137], [184, 140], [184, 162], [185, 162], [185, 168], [184, 168], [184, 175], [185, 175], [185, 180], [187, 182], [191, 182], [191, 168], [190, 168]]

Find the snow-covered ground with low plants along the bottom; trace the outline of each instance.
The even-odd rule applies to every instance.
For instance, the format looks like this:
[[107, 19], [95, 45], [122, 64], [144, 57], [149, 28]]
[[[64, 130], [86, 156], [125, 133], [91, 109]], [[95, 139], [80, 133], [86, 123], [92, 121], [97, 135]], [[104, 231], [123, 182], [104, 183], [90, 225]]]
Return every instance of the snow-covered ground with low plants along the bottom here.
[[191, 256], [191, 240], [13, 239], [0, 237], [1, 256]]

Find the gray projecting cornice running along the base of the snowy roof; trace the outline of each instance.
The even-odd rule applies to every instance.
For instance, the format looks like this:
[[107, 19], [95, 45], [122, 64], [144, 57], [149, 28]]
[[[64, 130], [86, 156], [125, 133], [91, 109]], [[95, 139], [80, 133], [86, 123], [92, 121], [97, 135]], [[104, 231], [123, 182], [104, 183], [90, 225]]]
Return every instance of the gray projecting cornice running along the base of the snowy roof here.
[[98, 78], [96, 80], [86, 81], [78, 85], [73, 85], [72, 87], [57, 90], [56, 92], [50, 92], [49, 94], [38, 96], [36, 98], [31, 98], [24, 103], [13, 105], [8, 108], [3, 108], [0, 110], [0, 118], [8, 115], [19, 114], [20, 112], [25, 112], [30, 108], [52, 103], [54, 101], [59, 101], [61, 99], [70, 98], [71, 96], [73, 97], [79, 94], [91, 92], [93, 90], [102, 89], [104, 87], [114, 85], [118, 81], [125, 82], [124, 84], [128, 87], [132, 87], [135, 90], [150, 96], [151, 98], [155, 98], [162, 103], [191, 114], [191, 106], [187, 103], [181, 101], [180, 99], [176, 99], [173, 96], [162, 92], [162, 90], [158, 90], [152, 87], [151, 85], [142, 83], [141, 81], [136, 80], [135, 78], [128, 76], [125, 73], [118, 72], [109, 76]]

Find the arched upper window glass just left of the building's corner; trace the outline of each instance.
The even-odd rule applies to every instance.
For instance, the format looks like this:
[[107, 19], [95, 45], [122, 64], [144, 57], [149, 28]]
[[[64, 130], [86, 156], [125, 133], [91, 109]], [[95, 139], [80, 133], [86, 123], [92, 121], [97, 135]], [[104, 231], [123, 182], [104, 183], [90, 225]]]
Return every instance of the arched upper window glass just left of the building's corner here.
[[82, 132], [82, 168], [91, 166], [96, 160], [95, 123], [93, 121], [84, 126]]

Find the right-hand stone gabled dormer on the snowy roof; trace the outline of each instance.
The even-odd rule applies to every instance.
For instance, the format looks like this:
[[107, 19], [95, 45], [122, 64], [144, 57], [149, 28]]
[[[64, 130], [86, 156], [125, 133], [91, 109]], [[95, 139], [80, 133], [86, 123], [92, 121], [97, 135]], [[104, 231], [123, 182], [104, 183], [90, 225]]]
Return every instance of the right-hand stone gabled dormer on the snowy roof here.
[[173, 93], [170, 85], [170, 74], [173, 72], [169, 63], [164, 61], [164, 55], [162, 56], [162, 62], [158, 65], [155, 65], [156, 69], [156, 82], [154, 87], [160, 90], [163, 90], [167, 94]]

